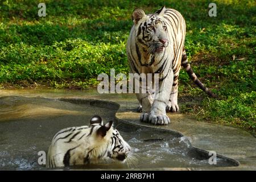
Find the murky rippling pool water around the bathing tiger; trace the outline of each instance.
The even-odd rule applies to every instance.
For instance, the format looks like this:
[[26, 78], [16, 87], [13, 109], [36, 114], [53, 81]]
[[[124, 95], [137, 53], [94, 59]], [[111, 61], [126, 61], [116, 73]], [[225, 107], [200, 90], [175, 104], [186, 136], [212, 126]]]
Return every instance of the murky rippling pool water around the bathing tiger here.
[[[67, 101], [67, 100], [66, 100]], [[66, 102], [40, 97], [0, 97], [0, 169], [46, 169], [38, 164], [38, 152], [48, 151], [53, 135], [65, 127], [89, 125], [98, 114], [107, 122], [114, 120], [117, 106], [94, 101]], [[208, 158], [191, 146], [186, 137], [173, 137], [168, 132], [131, 128], [118, 124], [117, 129], [132, 147], [130, 163], [94, 164], [73, 168], [158, 168], [158, 167], [224, 167], [234, 164]], [[69, 169], [69, 168], [68, 168]]]

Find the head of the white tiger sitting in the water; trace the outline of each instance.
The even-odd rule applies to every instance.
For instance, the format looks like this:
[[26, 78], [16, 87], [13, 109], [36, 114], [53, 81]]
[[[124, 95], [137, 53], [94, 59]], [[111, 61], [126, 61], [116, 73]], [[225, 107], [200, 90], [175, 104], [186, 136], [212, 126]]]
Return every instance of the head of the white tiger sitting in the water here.
[[101, 151], [98, 152], [97, 158], [105, 159], [110, 158], [125, 162], [131, 147], [122, 138], [117, 129], [113, 127], [113, 121], [110, 121], [103, 125], [102, 119], [98, 115], [94, 115], [90, 120], [91, 126], [96, 126], [95, 137], [97, 141], [101, 143]]

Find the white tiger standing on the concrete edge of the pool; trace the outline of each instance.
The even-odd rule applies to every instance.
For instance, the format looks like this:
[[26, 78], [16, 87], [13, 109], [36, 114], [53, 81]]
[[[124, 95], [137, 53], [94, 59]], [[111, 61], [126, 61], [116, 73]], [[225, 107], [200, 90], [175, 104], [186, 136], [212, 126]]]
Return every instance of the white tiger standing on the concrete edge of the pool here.
[[146, 15], [142, 9], [135, 9], [132, 18], [134, 25], [126, 47], [131, 71], [159, 74], [158, 90], [137, 94], [142, 122], [167, 125], [170, 119], [166, 110], [179, 110], [177, 79], [181, 65], [197, 86], [209, 96], [215, 96], [199, 81], [188, 63], [184, 49], [185, 20], [178, 11], [162, 7]]

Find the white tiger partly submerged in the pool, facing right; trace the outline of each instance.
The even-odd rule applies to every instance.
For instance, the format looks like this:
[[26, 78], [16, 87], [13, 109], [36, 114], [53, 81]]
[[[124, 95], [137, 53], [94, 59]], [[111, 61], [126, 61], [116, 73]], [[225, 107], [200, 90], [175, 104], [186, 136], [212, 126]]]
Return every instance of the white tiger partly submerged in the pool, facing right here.
[[110, 121], [103, 125], [101, 117], [95, 115], [90, 126], [60, 130], [49, 146], [46, 167], [99, 163], [106, 159], [125, 162], [131, 147], [112, 124]]

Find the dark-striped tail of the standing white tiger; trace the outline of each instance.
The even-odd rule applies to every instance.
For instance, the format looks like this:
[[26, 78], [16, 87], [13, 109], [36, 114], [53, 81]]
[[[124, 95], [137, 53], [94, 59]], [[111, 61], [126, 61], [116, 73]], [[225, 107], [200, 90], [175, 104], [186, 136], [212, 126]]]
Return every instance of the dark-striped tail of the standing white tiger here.
[[197, 78], [196, 74], [193, 72], [190, 64], [188, 63], [188, 58], [185, 49], [182, 53], [182, 59], [181, 59], [181, 65], [183, 68], [185, 68], [186, 72], [188, 73], [188, 76], [191, 78], [191, 80], [199, 86], [200, 89], [204, 90], [205, 93], [208, 94], [208, 96], [217, 98], [216, 94], [214, 94], [210, 89], [208, 89], [200, 80]]

